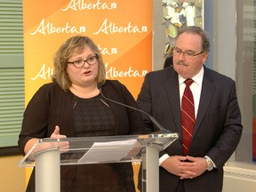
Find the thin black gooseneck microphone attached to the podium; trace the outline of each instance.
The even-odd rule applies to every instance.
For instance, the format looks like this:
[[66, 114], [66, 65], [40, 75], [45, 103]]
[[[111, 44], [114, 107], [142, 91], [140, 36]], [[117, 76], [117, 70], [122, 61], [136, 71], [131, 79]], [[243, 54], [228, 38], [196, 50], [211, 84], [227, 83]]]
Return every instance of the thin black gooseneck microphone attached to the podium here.
[[110, 100], [108, 99], [107, 97], [105, 97], [103, 95], [103, 93], [101, 92], [101, 88], [102, 88], [102, 84], [98, 83], [97, 84], [97, 87], [98, 89], [100, 90], [100, 95], [105, 99], [105, 100], [109, 100], [111, 102], [114, 102], [118, 105], [121, 105], [121, 106], [124, 106], [125, 108], [132, 108], [133, 110], [136, 110], [136, 111], [139, 111], [140, 113], [148, 116], [148, 118], [150, 119], [150, 121], [152, 122], [152, 124], [155, 125], [155, 127], [158, 129], [156, 132], [153, 132], [154, 134], [163, 134], [163, 133], [172, 133], [170, 130], [167, 130], [167, 129], [164, 129], [164, 127], [159, 124], [156, 119], [153, 117], [153, 116], [150, 116], [148, 113], [146, 113], [145, 111], [142, 111], [140, 110], [139, 108], [133, 108], [132, 106], [128, 106], [128, 105], [125, 105], [124, 103], [121, 103], [121, 102], [117, 102], [116, 100]]

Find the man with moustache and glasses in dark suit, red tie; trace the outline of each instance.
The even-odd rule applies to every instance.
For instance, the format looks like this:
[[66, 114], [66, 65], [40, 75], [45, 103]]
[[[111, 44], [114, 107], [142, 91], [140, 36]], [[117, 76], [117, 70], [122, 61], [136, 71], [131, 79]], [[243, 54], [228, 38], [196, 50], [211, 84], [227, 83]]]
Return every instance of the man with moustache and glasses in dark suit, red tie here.
[[[241, 138], [236, 84], [204, 67], [209, 51], [204, 29], [180, 28], [173, 67], [148, 73], [138, 96], [142, 110], [180, 135], [160, 154], [161, 192], [221, 191], [223, 166]], [[152, 126], [146, 116], [145, 123]]]

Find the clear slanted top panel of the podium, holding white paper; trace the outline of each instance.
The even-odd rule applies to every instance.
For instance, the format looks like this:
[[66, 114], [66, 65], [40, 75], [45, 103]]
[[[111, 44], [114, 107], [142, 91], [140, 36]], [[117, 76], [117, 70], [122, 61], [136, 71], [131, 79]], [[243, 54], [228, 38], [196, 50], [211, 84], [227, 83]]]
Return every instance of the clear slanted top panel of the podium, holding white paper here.
[[[20, 160], [20, 166], [35, 166], [36, 156], [49, 150], [60, 151], [61, 165], [136, 162], [141, 161], [141, 149], [153, 147], [162, 151], [177, 139], [177, 133], [40, 139]], [[67, 143], [69, 148], [63, 148]]]

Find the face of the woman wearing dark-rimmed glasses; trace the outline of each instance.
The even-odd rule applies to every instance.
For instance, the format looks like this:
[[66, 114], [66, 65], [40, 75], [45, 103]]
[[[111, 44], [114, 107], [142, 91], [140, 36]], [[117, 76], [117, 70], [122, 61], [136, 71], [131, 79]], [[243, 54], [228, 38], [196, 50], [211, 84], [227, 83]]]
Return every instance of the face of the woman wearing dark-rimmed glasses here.
[[[98, 75], [98, 60], [94, 64], [89, 65], [88, 62], [85, 62], [83, 60], [94, 60], [93, 58], [95, 56], [95, 53], [92, 52], [92, 50], [85, 46], [82, 52], [78, 52], [78, 50], [75, 50], [75, 52], [70, 56], [68, 59], [68, 67], [67, 67], [67, 73], [68, 76], [72, 82], [72, 84], [76, 84], [77, 86], [90, 86], [92, 84], [95, 84], [96, 77]], [[83, 68], [76, 68], [74, 64], [70, 62], [79, 63], [79, 60], [82, 62], [82, 66], [84, 63]]]

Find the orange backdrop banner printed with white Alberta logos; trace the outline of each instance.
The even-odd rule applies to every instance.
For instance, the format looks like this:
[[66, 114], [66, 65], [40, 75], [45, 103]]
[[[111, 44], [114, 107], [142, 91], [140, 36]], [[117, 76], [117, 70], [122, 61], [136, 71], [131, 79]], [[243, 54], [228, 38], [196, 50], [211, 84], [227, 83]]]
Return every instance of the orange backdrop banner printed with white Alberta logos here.
[[152, 17], [148, 0], [23, 0], [26, 106], [42, 84], [51, 82], [60, 44], [76, 35], [98, 44], [107, 78], [118, 79], [137, 99], [152, 70]]

